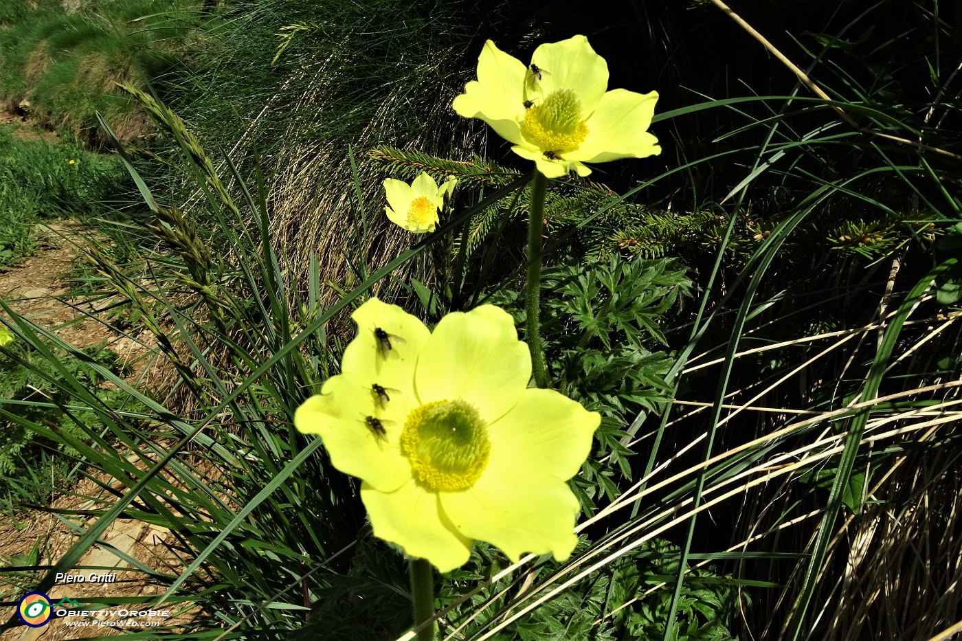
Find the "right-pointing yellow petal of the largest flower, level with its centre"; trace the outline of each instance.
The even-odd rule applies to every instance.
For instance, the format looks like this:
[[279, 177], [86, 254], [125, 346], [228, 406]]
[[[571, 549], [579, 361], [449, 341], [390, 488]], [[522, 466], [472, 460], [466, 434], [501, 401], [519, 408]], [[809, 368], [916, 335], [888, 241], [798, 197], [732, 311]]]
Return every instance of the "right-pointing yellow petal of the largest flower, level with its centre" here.
[[554, 390], [526, 389], [518, 404], [488, 428], [491, 463], [568, 480], [591, 453], [600, 423], [597, 412]]

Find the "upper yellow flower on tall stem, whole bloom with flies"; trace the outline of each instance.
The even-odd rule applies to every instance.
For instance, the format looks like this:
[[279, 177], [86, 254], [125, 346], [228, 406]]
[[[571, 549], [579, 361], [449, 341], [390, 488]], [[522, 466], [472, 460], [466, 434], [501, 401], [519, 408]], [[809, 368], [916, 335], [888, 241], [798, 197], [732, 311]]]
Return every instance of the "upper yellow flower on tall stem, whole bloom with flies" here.
[[607, 88], [608, 64], [584, 36], [542, 44], [530, 65], [488, 40], [478, 58], [478, 79], [452, 107], [490, 124], [548, 178], [572, 169], [587, 176], [592, 170], [582, 163], [661, 153], [647, 132], [658, 93]]

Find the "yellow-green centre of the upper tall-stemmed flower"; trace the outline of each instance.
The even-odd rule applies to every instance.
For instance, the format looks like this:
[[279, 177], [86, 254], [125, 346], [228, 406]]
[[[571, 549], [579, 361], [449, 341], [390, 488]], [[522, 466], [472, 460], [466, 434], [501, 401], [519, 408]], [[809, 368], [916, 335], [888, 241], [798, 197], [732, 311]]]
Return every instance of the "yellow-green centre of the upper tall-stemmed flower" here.
[[524, 111], [521, 135], [545, 153], [573, 151], [588, 136], [581, 101], [572, 90], [552, 91], [544, 102]]

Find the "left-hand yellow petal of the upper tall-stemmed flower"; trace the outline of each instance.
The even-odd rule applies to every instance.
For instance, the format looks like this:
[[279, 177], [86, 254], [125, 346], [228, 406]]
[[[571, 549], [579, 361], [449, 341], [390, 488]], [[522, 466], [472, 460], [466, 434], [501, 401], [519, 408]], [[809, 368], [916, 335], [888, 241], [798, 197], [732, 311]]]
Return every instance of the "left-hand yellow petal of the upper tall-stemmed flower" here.
[[451, 107], [466, 118], [481, 118], [506, 141], [521, 141], [519, 119], [524, 117], [524, 76], [527, 67], [514, 56], [485, 42], [478, 57], [478, 79], [465, 86]]

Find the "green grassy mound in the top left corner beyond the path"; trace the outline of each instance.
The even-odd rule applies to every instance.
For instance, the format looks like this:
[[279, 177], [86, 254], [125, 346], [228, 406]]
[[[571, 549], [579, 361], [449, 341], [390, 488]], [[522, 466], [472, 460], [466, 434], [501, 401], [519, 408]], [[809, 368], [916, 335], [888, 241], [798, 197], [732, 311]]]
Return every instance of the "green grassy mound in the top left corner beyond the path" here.
[[145, 134], [142, 115], [114, 82], [163, 85], [197, 38], [196, 5], [91, 0], [67, 12], [41, 0], [7, 7], [0, 13], [0, 100], [94, 145], [103, 144], [97, 112], [124, 140]]

